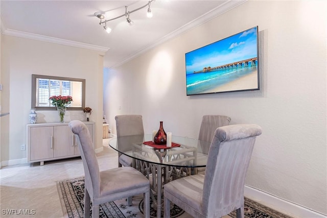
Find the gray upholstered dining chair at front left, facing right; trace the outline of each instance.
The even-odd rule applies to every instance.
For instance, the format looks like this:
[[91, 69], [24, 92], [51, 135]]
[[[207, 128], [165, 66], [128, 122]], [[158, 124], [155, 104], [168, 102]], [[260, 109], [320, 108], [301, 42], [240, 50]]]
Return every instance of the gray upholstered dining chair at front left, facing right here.
[[101, 171], [91, 136], [85, 124], [79, 120], [69, 122], [76, 136], [85, 173], [84, 218], [99, 217], [99, 206], [109, 201], [127, 198], [141, 193], [145, 196], [145, 217], [150, 217], [150, 181], [133, 167], [118, 167]]

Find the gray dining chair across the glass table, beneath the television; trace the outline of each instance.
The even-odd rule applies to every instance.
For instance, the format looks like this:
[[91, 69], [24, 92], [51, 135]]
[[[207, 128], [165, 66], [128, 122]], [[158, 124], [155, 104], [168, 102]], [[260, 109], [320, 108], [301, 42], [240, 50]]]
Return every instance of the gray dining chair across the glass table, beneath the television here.
[[[203, 115], [198, 139], [201, 141], [211, 142], [215, 131], [218, 127], [228, 126], [231, 118], [225, 115]], [[208, 154], [209, 146], [201, 145], [202, 153]], [[206, 158], [203, 158], [203, 162]], [[201, 162], [201, 157], [198, 157], [198, 162]], [[198, 173], [205, 173], [205, 167], [198, 167]]]

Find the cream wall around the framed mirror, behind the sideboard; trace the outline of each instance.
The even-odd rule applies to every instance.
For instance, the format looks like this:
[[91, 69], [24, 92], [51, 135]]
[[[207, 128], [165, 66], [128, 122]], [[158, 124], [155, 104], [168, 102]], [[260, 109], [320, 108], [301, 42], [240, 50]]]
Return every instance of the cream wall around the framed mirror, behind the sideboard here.
[[[9, 116], [1, 119], [1, 160], [21, 160], [31, 109], [32, 74], [85, 79], [85, 106], [96, 122], [96, 148], [102, 147], [103, 54], [49, 42], [2, 35], [2, 106]], [[36, 111], [37, 123], [58, 123], [57, 111]], [[86, 120], [83, 111], [67, 110], [65, 122]]]

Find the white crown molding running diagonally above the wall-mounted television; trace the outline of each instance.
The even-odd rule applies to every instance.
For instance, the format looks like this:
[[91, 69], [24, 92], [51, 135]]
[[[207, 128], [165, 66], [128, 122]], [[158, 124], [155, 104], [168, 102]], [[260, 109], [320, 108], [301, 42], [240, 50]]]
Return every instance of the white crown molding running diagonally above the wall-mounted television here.
[[247, 2], [248, 0], [229, 0], [227, 2], [225, 2], [224, 4], [212, 9], [211, 11], [208, 11], [207, 13], [199, 16], [198, 18], [195, 18], [194, 20], [186, 23], [184, 26], [180, 27], [179, 29], [167, 34], [166, 36], [162, 37], [161, 39], [157, 40], [155, 43], [151, 44], [150, 46], [145, 47], [144, 49], [142, 49], [141, 51], [127, 57], [126, 59], [122, 60], [121, 62], [114, 64], [108, 68], [114, 68], [114, 67], [118, 67], [134, 58], [136, 58], [137, 56], [145, 53], [146, 51], [149, 51], [150, 49], [153, 49], [154, 47], [158, 46], [159, 44], [162, 44], [172, 38], [175, 38], [185, 32], [188, 32], [200, 25], [202, 25], [203, 23], [212, 20], [213, 18], [225, 13], [226, 11], [229, 11], [245, 2]]

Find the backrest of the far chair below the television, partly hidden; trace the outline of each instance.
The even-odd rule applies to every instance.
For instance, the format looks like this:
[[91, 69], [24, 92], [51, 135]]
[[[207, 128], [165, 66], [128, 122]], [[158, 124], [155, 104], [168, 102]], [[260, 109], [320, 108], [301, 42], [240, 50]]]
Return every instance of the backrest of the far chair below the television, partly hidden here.
[[216, 129], [229, 125], [230, 120], [229, 116], [224, 115], [204, 115], [199, 132], [199, 140], [211, 142]]

